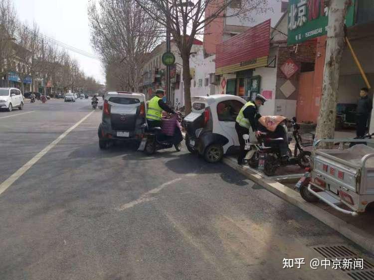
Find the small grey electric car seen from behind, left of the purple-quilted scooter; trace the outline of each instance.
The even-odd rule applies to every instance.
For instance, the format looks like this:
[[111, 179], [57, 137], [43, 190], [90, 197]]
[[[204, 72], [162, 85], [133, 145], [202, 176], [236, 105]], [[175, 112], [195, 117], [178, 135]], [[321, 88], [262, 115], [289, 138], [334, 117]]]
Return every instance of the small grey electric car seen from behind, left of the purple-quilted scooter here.
[[98, 129], [99, 147], [105, 149], [113, 140], [141, 140], [146, 124], [146, 96], [133, 92], [108, 92]]

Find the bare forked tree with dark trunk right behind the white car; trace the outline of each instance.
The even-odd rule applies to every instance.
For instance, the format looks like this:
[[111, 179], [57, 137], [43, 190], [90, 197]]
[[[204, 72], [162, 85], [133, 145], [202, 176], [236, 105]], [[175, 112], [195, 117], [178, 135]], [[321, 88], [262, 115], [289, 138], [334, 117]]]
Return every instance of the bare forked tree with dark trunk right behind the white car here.
[[[191, 111], [191, 75], [189, 56], [193, 40], [202, 34], [204, 27], [214, 19], [228, 16], [248, 16], [250, 12], [264, 11], [267, 0], [136, 0], [144, 10], [162, 26], [170, 30], [183, 60], [183, 82], [186, 113]], [[226, 9], [235, 4], [237, 8], [229, 15]], [[205, 17], [205, 11], [211, 13]], [[160, 16], [161, 15], [161, 16]]]

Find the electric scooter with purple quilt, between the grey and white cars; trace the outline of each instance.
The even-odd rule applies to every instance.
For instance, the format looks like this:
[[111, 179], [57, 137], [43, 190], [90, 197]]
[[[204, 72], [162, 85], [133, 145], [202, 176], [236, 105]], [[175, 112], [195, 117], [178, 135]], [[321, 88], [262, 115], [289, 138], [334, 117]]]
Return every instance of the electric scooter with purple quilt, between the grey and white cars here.
[[146, 154], [152, 155], [157, 150], [174, 146], [177, 151], [180, 151], [183, 141], [180, 120], [180, 113], [169, 115], [169, 118], [162, 120], [162, 127], [147, 129], [139, 150], [144, 150]]

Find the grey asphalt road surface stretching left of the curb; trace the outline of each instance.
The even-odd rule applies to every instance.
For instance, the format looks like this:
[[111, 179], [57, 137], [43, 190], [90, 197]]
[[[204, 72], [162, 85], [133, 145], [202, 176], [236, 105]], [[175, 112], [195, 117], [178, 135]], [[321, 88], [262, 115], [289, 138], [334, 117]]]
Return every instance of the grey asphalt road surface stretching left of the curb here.
[[185, 149], [101, 151], [89, 105], [0, 112], [1, 280], [346, 279], [282, 269], [321, 258], [312, 246], [354, 246], [337, 232]]

